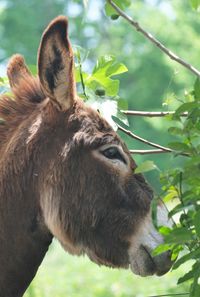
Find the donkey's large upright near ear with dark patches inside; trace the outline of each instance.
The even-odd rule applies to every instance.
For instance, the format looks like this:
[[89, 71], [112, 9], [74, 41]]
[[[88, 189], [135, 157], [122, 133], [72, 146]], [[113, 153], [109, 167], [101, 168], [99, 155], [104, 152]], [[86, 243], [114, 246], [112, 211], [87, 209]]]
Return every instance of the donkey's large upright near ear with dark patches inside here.
[[54, 19], [43, 33], [38, 53], [43, 91], [62, 111], [68, 110], [76, 98], [73, 52], [67, 29], [66, 17]]

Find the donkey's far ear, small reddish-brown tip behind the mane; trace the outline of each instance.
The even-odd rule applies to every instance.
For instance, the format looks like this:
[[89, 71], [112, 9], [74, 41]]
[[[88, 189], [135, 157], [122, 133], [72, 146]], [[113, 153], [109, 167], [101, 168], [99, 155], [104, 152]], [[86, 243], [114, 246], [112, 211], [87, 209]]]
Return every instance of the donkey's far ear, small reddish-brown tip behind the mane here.
[[31, 77], [31, 73], [25, 64], [24, 58], [21, 55], [13, 55], [7, 67], [7, 75], [11, 89], [16, 87], [20, 80], [25, 77]]

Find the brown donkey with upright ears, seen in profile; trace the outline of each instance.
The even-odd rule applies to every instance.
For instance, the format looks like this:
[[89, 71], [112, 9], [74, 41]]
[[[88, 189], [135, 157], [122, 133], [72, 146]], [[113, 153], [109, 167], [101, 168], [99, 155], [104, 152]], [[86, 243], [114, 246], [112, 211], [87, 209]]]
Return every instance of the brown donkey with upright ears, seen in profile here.
[[[162, 275], [170, 252], [151, 221], [153, 193], [126, 145], [76, 93], [64, 16], [44, 31], [38, 77], [14, 55], [0, 100], [0, 296], [20, 297], [56, 237], [75, 255]], [[168, 224], [158, 206], [158, 219]]]

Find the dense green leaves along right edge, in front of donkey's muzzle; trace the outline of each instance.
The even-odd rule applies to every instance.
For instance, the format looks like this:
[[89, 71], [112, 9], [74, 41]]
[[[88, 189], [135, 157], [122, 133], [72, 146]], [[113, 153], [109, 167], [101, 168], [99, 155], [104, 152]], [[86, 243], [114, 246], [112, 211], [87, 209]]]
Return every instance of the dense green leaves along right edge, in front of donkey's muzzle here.
[[[187, 112], [186, 118], [181, 117]], [[163, 200], [173, 201], [175, 206], [170, 211], [170, 217], [176, 217], [172, 229], [161, 228], [165, 235], [167, 247], [173, 251], [175, 259], [180, 251], [184, 254], [176, 261], [173, 269], [183, 263], [193, 260], [189, 272], [178, 280], [178, 284], [190, 281], [190, 296], [200, 296], [200, 80], [196, 79], [193, 90], [184, 98], [171, 121], [176, 126], [170, 127], [169, 132], [178, 136], [178, 141], [171, 143], [176, 151], [175, 157], [185, 153], [187, 157], [177, 168], [162, 173]], [[177, 219], [178, 216], [178, 219]], [[159, 247], [160, 253], [166, 246]]]

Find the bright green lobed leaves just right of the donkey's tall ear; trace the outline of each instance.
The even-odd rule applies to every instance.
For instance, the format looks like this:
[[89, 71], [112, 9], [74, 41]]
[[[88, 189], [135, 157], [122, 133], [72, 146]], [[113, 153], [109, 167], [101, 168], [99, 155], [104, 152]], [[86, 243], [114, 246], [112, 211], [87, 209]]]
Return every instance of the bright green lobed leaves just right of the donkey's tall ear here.
[[127, 72], [127, 67], [117, 62], [113, 55], [104, 55], [97, 60], [92, 71], [87, 73], [83, 71], [82, 65], [88, 53], [79, 46], [75, 47], [74, 53], [77, 60], [76, 82], [80, 84], [79, 96], [106, 117], [114, 129], [115, 117], [127, 124], [126, 117], [120, 112], [122, 107], [127, 107], [127, 101], [119, 97], [119, 80], [113, 79]]

